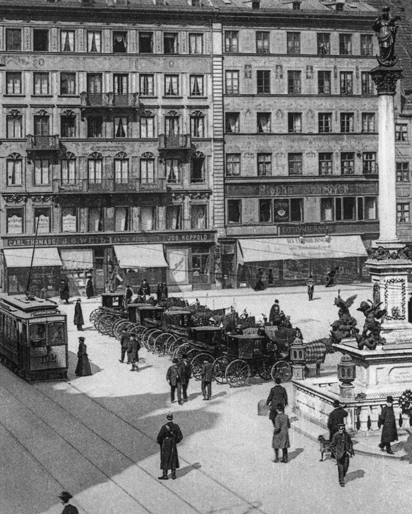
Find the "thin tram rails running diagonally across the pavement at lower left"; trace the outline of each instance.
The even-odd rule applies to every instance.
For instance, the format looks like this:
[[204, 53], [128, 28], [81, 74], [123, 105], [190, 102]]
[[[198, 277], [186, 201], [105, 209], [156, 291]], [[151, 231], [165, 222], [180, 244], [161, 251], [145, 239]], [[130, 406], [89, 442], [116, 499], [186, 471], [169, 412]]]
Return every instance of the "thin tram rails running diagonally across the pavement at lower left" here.
[[[83, 395], [84, 397], [86, 397], [89, 401], [92, 401], [94, 403], [96, 403], [96, 405], [99, 406], [99, 408], [107, 411], [108, 413], [110, 413], [111, 415], [115, 416], [118, 420], [120, 420], [122, 423], [126, 424], [127, 426], [129, 426], [130, 428], [132, 428], [133, 430], [135, 430], [136, 432], [138, 432], [139, 434], [141, 434], [143, 437], [145, 437], [146, 439], [150, 440], [151, 442], [154, 442], [156, 443], [156, 439], [154, 437], [151, 437], [149, 436], [148, 434], [146, 434], [145, 432], [143, 432], [142, 430], [140, 430], [139, 428], [137, 428], [135, 425], [133, 425], [132, 423], [130, 423], [127, 419], [124, 419], [122, 416], [119, 416], [116, 412], [108, 409], [105, 405], [103, 405], [101, 402], [97, 401], [95, 398], [91, 398], [90, 396], [88, 396], [87, 394], [85, 394], [81, 389], [77, 388], [76, 386], [73, 386], [73, 384], [69, 383], [69, 382], [66, 382], [68, 386], [70, 386], [71, 389], [73, 389], [74, 391], [76, 391], [77, 393], [80, 393], [81, 395]], [[90, 432], [92, 432], [93, 434], [95, 434], [99, 439], [101, 439], [104, 443], [106, 443], [108, 446], [110, 446], [111, 448], [113, 448], [115, 451], [117, 451], [118, 453], [120, 453], [124, 458], [126, 458], [131, 465], [134, 465], [134, 466], [137, 466], [143, 473], [145, 473], [150, 479], [152, 479], [153, 481], [155, 481], [156, 483], [158, 483], [158, 481], [154, 478], [154, 476], [149, 473], [148, 471], [146, 471], [142, 466], [140, 466], [137, 462], [135, 462], [134, 460], [132, 460], [132, 458], [130, 458], [128, 455], [126, 455], [122, 450], [116, 448], [116, 446], [114, 446], [112, 443], [110, 443], [107, 439], [105, 439], [102, 435], [100, 435], [98, 432], [96, 432], [95, 430], [93, 430], [92, 428], [90, 428], [89, 426], [87, 426], [84, 421], [74, 415], [71, 411], [69, 411], [68, 409], [66, 409], [64, 406], [62, 406], [58, 401], [56, 401], [54, 398], [52, 398], [51, 396], [49, 396], [48, 394], [46, 394], [43, 390], [39, 389], [39, 387], [36, 387], [36, 384], [31, 384], [32, 387], [38, 391], [39, 393], [41, 393], [45, 398], [47, 398], [49, 401], [51, 401], [52, 403], [54, 403], [54, 405], [56, 405], [59, 409], [63, 410], [64, 412], [66, 412], [69, 416], [73, 417], [74, 419], [76, 419], [78, 421], [78, 423], [80, 423], [81, 425], [83, 425], [87, 430], [89, 430]], [[111, 476], [109, 476], [104, 470], [102, 470], [99, 466], [97, 466], [96, 464], [94, 464], [86, 455], [83, 454], [83, 452], [81, 452], [79, 449], [77, 449], [75, 446], [73, 446], [67, 439], [65, 439], [55, 428], [53, 428], [45, 419], [43, 419], [41, 416], [39, 416], [38, 413], [36, 413], [31, 407], [29, 407], [27, 405], [27, 403], [23, 402], [21, 400], [21, 398], [19, 398], [18, 396], [16, 396], [12, 391], [10, 391], [10, 389], [8, 389], [4, 383], [1, 383], [0, 382], [0, 388], [3, 388], [5, 389], [11, 396], [13, 396], [13, 398], [15, 398], [18, 402], [22, 403], [24, 405], [24, 407], [29, 410], [35, 417], [37, 417], [40, 421], [42, 421], [42, 423], [44, 423], [47, 427], [50, 428], [50, 430], [52, 430], [55, 434], [57, 434], [60, 438], [62, 438], [68, 445], [70, 445], [76, 452], [78, 452], [85, 460], [87, 460], [93, 467], [95, 467], [96, 469], [98, 469], [103, 475], [105, 475], [107, 477], [107, 479], [110, 481], [110, 482], [113, 482], [117, 487], [119, 487], [120, 489], [122, 489], [131, 499], [133, 499], [134, 501], [136, 501], [136, 503], [138, 505], [140, 505], [145, 511], [149, 512], [149, 514], [155, 514], [153, 511], [149, 510], [147, 507], [145, 507], [142, 503], [140, 503], [132, 494], [130, 494], [126, 489], [124, 489], [123, 486], [121, 486], [118, 482], [116, 482], [115, 480], [113, 480], [111, 478]], [[4, 426], [1, 421], [0, 421], [0, 424], [2, 426]], [[7, 427], [4, 427], [7, 431]], [[8, 431], [9, 432], [9, 431]], [[13, 435], [10, 433], [10, 435]], [[15, 438], [15, 436], [13, 435], [13, 437]], [[18, 440], [18, 439], [16, 439]], [[27, 451], [27, 450], [26, 450]], [[33, 457], [35, 458], [35, 457]], [[256, 512], [260, 512], [261, 514], [268, 514], [267, 511], [265, 510], [262, 510], [260, 509], [258, 506], [254, 505], [252, 502], [250, 502], [249, 500], [247, 500], [246, 498], [243, 498], [241, 495], [239, 495], [237, 492], [235, 492], [234, 490], [232, 490], [231, 488], [227, 487], [226, 485], [222, 484], [221, 482], [219, 482], [218, 480], [216, 480], [215, 478], [213, 478], [212, 475], [206, 473], [205, 471], [193, 466], [189, 461], [186, 461], [182, 456], [181, 456], [181, 453], [179, 454], [179, 460], [181, 462], [183, 462], [184, 464], [188, 465], [188, 466], [192, 466], [193, 469], [195, 469], [198, 473], [201, 473], [202, 475], [204, 475], [205, 477], [207, 477], [210, 481], [212, 481], [213, 483], [215, 483], [216, 485], [218, 485], [219, 487], [223, 488], [224, 490], [226, 490], [227, 492], [229, 492], [230, 494], [232, 494], [234, 497], [236, 497], [238, 500], [244, 502], [246, 504], [246, 506], [248, 506], [248, 514], [249, 512], [253, 512], [253, 511], [256, 511]], [[38, 462], [36, 460], [36, 462]], [[42, 466], [43, 467], [43, 466]], [[48, 471], [47, 471], [48, 472]], [[50, 473], [48, 472], [48, 474], [50, 475]], [[52, 475], [50, 475], [52, 476]], [[55, 479], [53, 476], [52, 476], [53, 480], [55, 480], [57, 483], [57, 479]], [[159, 484], [160, 485], [160, 484]], [[165, 484], [162, 484], [163, 486], [165, 486]], [[63, 487], [64, 488], [64, 487]], [[188, 505], [190, 508], [192, 508], [194, 511], [198, 512], [199, 514], [207, 514], [207, 512], [204, 512], [204, 511], [200, 511], [198, 510], [194, 505], [192, 505], [190, 502], [186, 501], [184, 498], [182, 498], [177, 492], [173, 491], [173, 489], [171, 488], [167, 488], [168, 491], [170, 493], [172, 493], [173, 495], [175, 495], [177, 498], [179, 498], [179, 500], [181, 502], [184, 502], [186, 505]], [[249, 510], [251, 509], [251, 510]]]

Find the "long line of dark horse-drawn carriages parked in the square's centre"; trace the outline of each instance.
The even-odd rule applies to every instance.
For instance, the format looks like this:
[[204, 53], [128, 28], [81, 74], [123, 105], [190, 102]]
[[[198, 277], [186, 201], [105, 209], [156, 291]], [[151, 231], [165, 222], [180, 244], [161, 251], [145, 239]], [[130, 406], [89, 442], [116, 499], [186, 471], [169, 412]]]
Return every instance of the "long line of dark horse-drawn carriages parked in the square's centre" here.
[[[177, 298], [156, 306], [124, 306], [122, 293], [104, 293], [102, 305], [92, 311], [90, 321], [100, 333], [116, 339], [125, 329], [159, 357], [181, 359], [188, 355], [197, 379], [205, 360], [213, 363], [215, 380], [231, 387], [244, 386], [256, 374], [264, 380], [278, 377], [282, 382], [292, 376], [289, 346], [296, 329], [288, 323], [283, 327], [258, 326], [254, 317], [239, 317], [232, 307], [211, 310]], [[326, 349], [321, 359], [325, 354]]]

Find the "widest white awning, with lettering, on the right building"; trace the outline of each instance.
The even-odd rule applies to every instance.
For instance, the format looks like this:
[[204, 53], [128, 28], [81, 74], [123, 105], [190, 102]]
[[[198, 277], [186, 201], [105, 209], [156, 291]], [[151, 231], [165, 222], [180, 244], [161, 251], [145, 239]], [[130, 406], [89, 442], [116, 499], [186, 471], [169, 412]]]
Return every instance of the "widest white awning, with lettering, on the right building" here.
[[[263, 261], [298, 261], [302, 259], [350, 259], [365, 257], [367, 252], [360, 235], [276, 237], [239, 239], [238, 263]], [[239, 255], [241, 253], [241, 255]]]

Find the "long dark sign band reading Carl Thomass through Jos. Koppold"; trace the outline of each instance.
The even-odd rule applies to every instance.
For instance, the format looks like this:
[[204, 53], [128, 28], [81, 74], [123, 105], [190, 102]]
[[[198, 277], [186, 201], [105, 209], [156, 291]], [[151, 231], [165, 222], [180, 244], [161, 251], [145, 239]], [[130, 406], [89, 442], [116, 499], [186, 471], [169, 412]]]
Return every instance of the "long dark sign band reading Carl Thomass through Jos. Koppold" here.
[[[25, 247], [34, 245], [32, 236], [4, 236], [4, 247]], [[90, 246], [90, 245], [121, 245], [134, 243], [212, 243], [213, 231], [166, 232], [166, 233], [103, 233], [103, 234], [77, 234], [77, 235], [53, 235], [38, 237], [36, 246]]]

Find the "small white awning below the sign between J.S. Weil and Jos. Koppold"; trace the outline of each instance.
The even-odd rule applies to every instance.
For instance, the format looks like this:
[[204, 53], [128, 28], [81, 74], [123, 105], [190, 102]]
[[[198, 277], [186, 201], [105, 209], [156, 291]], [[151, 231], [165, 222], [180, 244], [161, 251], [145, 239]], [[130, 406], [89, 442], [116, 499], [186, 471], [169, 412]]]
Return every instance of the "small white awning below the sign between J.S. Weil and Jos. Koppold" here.
[[163, 245], [114, 245], [121, 268], [168, 268]]

